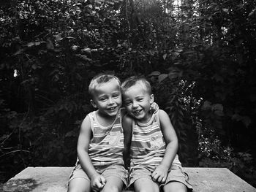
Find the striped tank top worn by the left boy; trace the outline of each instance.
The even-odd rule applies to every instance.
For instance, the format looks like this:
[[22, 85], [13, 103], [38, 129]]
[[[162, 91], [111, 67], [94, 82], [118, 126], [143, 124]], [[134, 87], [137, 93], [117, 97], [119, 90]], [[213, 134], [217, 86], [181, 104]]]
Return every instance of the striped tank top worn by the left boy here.
[[90, 112], [93, 137], [89, 144], [89, 156], [94, 167], [124, 164], [124, 133], [121, 127], [121, 110], [110, 126], [102, 126], [96, 118], [96, 112]]

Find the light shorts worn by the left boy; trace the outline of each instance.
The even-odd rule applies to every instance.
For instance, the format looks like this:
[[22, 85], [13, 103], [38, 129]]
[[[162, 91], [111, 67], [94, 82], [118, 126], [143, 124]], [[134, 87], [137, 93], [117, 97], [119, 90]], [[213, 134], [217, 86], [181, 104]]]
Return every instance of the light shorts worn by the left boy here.
[[[127, 183], [128, 172], [127, 172], [127, 169], [125, 169], [124, 166], [122, 166], [122, 165], [113, 164], [111, 166], [105, 167], [105, 169], [96, 169], [96, 170], [99, 174], [101, 174], [105, 178], [115, 176], [115, 177], [118, 177], [119, 179], [121, 179], [125, 186], [127, 186], [127, 184], [128, 184]], [[72, 173], [69, 176], [69, 182], [71, 180], [75, 179], [76, 177], [82, 177], [85, 180], [88, 180], [90, 183], [89, 176], [86, 174], [86, 172], [83, 171], [80, 164], [77, 164], [74, 167]]]

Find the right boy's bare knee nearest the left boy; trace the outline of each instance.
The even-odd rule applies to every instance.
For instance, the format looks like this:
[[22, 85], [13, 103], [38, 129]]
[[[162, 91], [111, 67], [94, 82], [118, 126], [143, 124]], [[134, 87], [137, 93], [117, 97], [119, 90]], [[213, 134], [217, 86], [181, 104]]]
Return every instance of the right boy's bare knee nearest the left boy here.
[[159, 185], [148, 178], [135, 180], [135, 192], [159, 192]]

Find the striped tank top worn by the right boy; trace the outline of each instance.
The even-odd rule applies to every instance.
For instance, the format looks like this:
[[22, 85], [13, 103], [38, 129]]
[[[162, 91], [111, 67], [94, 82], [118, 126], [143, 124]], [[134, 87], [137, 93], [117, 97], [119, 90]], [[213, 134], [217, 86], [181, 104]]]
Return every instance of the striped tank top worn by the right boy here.
[[[154, 113], [148, 123], [140, 123], [133, 120], [131, 142], [130, 168], [146, 166], [152, 172], [158, 166], [165, 155], [165, 138], [159, 123], [159, 110]], [[173, 164], [181, 166], [178, 155]]]

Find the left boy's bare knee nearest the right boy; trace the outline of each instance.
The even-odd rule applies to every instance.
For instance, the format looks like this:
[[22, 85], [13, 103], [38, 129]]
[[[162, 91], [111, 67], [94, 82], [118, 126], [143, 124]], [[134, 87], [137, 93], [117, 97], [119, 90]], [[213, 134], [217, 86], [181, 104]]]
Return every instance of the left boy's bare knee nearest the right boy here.
[[106, 178], [106, 184], [101, 192], [121, 192], [123, 190], [123, 181], [116, 177], [110, 176]]

